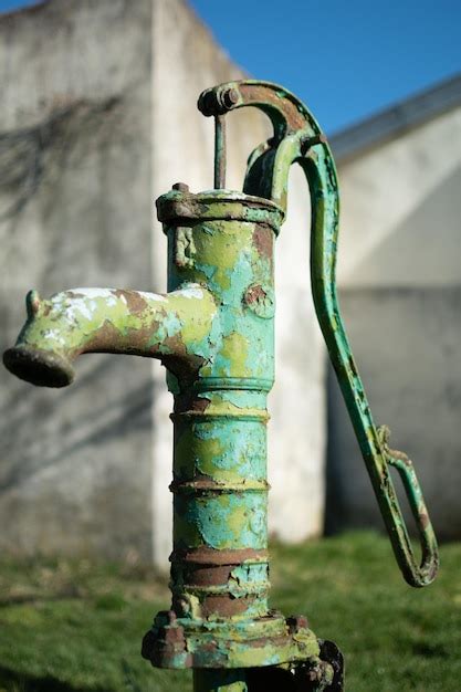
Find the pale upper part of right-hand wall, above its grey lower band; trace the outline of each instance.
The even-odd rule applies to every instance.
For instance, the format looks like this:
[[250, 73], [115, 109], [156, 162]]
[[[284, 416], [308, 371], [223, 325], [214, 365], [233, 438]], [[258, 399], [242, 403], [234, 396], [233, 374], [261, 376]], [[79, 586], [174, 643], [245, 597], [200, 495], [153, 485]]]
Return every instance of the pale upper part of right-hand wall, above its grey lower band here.
[[[453, 188], [460, 132], [457, 108], [339, 165], [342, 286], [460, 281]], [[417, 220], [422, 206], [431, 218]], [[398, 252], [389, 253], [391, 243]]]

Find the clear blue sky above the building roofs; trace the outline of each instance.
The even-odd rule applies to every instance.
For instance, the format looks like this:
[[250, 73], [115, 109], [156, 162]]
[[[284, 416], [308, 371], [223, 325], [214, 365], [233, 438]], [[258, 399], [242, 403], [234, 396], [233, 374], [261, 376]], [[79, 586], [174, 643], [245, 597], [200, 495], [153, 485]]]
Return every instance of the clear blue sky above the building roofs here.
[[461, 70], [461, 0], [189, 1], [240, 66], [293, 91], [328, 133]]

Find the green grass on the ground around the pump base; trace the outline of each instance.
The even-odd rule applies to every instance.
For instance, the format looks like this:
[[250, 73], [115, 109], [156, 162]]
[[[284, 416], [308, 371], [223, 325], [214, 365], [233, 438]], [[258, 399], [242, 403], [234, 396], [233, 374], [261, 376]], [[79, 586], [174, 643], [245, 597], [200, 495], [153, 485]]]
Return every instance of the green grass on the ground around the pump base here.
[[[418, 590], [373, 533], [274, 545], [271, 559], [272, 606], [307, 615], [342, 648], [347, 692], [461, 692], [460, 544], [443, 546], [439, 578]], [[189, 673], [139, 653], [169, 605], [166, 583], [149, 568], [4, 560], [0, 691], [189, 692]]]

